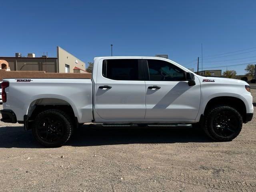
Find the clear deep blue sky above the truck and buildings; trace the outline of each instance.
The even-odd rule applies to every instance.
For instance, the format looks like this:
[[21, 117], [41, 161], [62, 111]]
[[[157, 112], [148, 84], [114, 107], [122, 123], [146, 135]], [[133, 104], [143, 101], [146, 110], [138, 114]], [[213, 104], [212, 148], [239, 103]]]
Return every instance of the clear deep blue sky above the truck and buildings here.
[[[109, 56], [113, 44], [114, 56], [168, 54], [196, 68], [202, 43], [203, 68], [256, 62], [255, 0], [0, 3], [0, 56], [48, 52], [55, 57], [60, 46], [87, 63], [95, 56]], [[227, 52], [232, 53], [223, 54]], [[228, 70], [244, 74], [245, 66]]]

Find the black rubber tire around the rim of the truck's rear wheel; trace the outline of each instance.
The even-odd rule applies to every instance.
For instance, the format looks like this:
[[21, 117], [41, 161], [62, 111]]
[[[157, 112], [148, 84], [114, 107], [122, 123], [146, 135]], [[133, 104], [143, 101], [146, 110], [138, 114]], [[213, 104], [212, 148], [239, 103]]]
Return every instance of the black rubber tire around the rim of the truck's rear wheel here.
[[[43, 120], [45, 118], [48, 119], [53, 119], [56, 120], [57, 122], [59, 122], [60, 128], [62, 130], [62, 133], [60, 134], [60, 138], [57, 138], [56, 140], [49, 142], [43, 139], [43, 137], [40, 137], [40, 131], [42, 132], [42, 130], [46, 130], [48, 128], [45, 127], [45, 122], [43, 122]], [[63, 112], [62, 110], [58, 110], [58, 109], [49, 109], [49, 110], [45, 110], [43, 112], [40, 112], [33, 123], [33, 127], [32, 127], [32, 133], [34, 135], [34, 137], [36, 138], [36, 140], [46, 146], [46, 147], [60, 147], [62, 146], [65, 142], [68, 141], [68, 139], [70, 138], [72, 132], [73, 132], [73, 123], [72, 123], [72, 119], [70, 118], [70, 116], [68, 116], [65, 112]], [[43, 128], [42, 125], [43, 124]], [[40, 129], [40, 130], [39, 130]], [[47, 130], [46, 130], [47, 132]], [[46, 136], [47, 138], [47, 136]]]

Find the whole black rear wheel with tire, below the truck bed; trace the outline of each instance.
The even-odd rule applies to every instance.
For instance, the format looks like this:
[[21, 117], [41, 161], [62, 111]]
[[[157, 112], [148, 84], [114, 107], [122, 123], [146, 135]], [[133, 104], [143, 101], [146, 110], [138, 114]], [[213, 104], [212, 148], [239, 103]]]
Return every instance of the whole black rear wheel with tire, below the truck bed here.
[[60, 147], [71, 136], [73, 124], [62, 110], [49, 109], [39, 113], [32, 132], [36, 140], [46, 147]]

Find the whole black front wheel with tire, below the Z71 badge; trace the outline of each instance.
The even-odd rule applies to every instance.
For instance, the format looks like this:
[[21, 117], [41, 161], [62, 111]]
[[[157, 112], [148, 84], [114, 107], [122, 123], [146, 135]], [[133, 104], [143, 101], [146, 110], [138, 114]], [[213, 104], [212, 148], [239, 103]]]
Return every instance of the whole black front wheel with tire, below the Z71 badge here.
[[231, 141], [242, 130], [242, 116], [230, 106], [216, 106], [207, 114], [204, 121], [204, 131], [217, 141]]

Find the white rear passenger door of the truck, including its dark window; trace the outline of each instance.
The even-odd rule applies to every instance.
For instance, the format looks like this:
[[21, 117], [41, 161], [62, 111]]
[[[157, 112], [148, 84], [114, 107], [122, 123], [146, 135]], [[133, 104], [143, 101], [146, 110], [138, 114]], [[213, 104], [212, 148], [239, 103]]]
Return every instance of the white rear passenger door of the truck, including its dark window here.
[[146, 88], [142, 59], [100, 60], [95, 92], [95, 110], [100, 118], [144, 119]]

